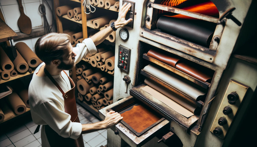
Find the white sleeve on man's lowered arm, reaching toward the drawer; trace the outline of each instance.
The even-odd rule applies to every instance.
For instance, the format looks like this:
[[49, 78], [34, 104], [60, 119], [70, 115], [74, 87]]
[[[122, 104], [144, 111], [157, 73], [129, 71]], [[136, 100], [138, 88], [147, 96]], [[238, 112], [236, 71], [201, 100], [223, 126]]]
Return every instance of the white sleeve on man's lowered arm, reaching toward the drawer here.
[[35, 113], [40, 114], [41, 118], [62, 137], [78, 139], [82, 132], [81, 123], [71, 122], [71, 116], [61, 110], [57, 101], [40, 103]]

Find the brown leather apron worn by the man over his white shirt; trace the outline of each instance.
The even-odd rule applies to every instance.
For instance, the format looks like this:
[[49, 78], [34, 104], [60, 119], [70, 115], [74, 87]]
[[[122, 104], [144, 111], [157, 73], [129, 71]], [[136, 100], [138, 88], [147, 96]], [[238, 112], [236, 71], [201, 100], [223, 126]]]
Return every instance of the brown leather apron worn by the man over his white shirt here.
[[[56, 87], [61, 91], [62, 97], [64, 99], [64, 109], [66, 113], [70, 114], [71, 122], [80, 123], [75, 99], [75, 84], [72, 81], [72, 79], [67, 75], [66, 72], [64, 72], [68, 76], [70, 85], [72, 87], [69, 91], [64, 93], [61, 87], [57, 84], [57, 82], [53, 79], [53, 77], [45, 68], [44, 72], [49, 77], [49, 79], [54, 83], [54, 85], [56, 85]], [[51, 147], [84, 147], [82, 134], [80, 134], [78, 139], [64, 138], [57, 134], [51, 127], [49, 127], [49, 125], [45, 125], [45, 133], [47, 135], [47, 139]]]

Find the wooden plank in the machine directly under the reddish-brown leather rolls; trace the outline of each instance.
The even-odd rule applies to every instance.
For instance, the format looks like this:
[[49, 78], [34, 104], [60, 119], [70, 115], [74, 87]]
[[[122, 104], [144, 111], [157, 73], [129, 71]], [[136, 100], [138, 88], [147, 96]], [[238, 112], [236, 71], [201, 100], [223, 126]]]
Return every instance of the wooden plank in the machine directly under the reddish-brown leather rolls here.
[[165, 64], [165, 63], [160, 62], [160, 61], [157, 60], [157, 59], [154, 59], [154, 58], [152, 58], [152, 57], [147, 56], [146, 53], [143, 54], [143, 58], [146, 59], [146, 60], [148, 60], [148, 61], [150, 61], [150, 62], [152, 62], [152, 63], [155, 63], [155, 64], [157, 64], [157, 65], [159, 65], [159, 66], [162, 66], [163, 68], [166, 68], [167, 70], [169, 70], [169, 71], [171, 71], [171, 72], [173, 72], [173, 73], [175, 73], [175, 74], [178, 74], [178, 75], [184, 77], [185, 79], [187, 79], [187, 80], [189, 80], [189, 81], [191, 81], [191, 82], [194, 82], [194, 83], [196, 83], [197, 85], [199, 85], [199, 86], [201, 86], [201, 87], [203, 87], [203, 88], [205, 88], [205, 89], [208, 89], [208, 88], [209, 88], [210, 83], [208, 83], [208, 82], [202, 82], [202, 81], [196, 79], [195, 77], [192, 77], [192, 76], [190, 76], [190, 75], [188, 75], [188, 74], [186, 74], [186, 73], [184, 73], [184, 72], [181, 72], [180, 70], [177, 70], [176, 68], [174, 68], [174, 67], [172, 67], [172, 66], [169, 66], [169, 65], [167, 65], [167, 64]]

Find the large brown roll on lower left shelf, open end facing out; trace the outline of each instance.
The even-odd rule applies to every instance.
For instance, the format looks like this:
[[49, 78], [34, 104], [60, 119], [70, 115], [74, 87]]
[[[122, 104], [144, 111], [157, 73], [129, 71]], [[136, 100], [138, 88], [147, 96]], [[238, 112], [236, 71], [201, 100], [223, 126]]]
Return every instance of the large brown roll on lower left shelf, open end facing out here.
[[20, 115], [26, 112], [26, 105], [16, 92], [13, 91], [7, 95], [6, 101], [10, 104], [15, 114]]

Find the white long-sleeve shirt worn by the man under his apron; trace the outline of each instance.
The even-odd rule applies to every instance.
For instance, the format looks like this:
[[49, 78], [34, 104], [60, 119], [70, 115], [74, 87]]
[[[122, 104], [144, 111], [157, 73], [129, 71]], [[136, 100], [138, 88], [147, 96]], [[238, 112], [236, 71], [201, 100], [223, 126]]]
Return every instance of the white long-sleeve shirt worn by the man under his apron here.
[[[75, 63], [77, 64], [88, 53], [93, 54], [97, 49], [94, 42], [87, 38], [82, 43], [77, 44], [73, 51], [77, 54], [75, 57]], [[77, 139], [82, 132], [82, 125], [70, 121], [71, 116], [64, 110], [62, 93], [51, 80], [47, 76], [36, 75], [42, 65], [44, 63], [36, 68], [29, 85], [29, 103], [33, 122], [38, 125], [49, 125], [62, 137]], [[69, 75], [69, 71], [65, 72]], [[64, 92], [71, 89], [69, 78], [63, 71], [59, 75], [53, 76], [53, 78]], [[49, 146], [44, 127], [41, 129], [41, 141], [42, 147]]]

